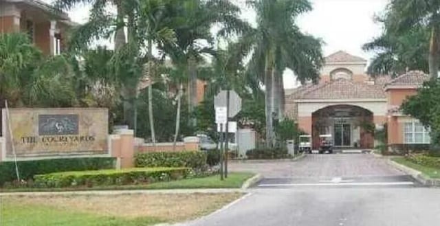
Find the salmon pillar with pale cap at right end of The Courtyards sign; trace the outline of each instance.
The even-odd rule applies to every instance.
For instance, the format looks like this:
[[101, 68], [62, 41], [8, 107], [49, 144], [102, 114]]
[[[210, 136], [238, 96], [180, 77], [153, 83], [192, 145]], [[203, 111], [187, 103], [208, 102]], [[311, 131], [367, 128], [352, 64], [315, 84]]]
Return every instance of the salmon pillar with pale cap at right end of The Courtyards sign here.
[[[117, 157], [117, 167], [119, 168], [133, 168], [135, 149], [134, 149], [134, 136], [133, 130], [120, 129], [116, 130], [115, 135], [119, 135], [119, 139], [113, 139], [112, 156]], [[113, 154], [114, 152], [114, 154]]]

